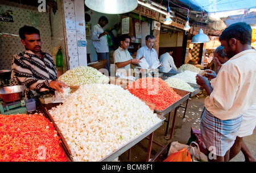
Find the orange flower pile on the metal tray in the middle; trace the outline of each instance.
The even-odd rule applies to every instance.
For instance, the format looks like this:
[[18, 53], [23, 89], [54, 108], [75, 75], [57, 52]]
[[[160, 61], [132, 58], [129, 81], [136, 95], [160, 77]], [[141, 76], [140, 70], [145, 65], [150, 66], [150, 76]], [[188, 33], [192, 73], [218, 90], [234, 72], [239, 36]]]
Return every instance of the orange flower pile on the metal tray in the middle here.
[[141, 78], [126, 87], [131, 94], [155, 104], [155, 109], [163, 111], [181, 97], [160, 78]]

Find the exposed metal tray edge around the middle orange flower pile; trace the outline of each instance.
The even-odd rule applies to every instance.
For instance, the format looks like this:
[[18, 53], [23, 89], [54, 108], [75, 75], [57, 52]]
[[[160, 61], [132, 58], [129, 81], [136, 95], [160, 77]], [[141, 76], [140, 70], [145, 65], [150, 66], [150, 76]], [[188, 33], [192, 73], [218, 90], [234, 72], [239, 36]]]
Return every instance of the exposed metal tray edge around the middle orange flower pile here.
[[182, 104], [183, 102], [185, 102], [185, 100], [187, 100], [189, 98], [189, 95], [191, 92], [188, 91], [184, 91], [184, 90], [179, 90], [177, 88], [173, 88], [174, 91], [179, 94], [181, 96], [181, 98], [179, 100], [177, 100], [176, 102], [172, 103], [170, 106], [168, 106], [166, 109], [164, 109], [163, 111], [159, 111], [158, 109], [155, 109], [155, 113], [157, 113], [160, 116], [164, 116], [167, 113], [171, 112], [173, 109], [175, 109], [176, 107], [178, 107], [180, 104]]

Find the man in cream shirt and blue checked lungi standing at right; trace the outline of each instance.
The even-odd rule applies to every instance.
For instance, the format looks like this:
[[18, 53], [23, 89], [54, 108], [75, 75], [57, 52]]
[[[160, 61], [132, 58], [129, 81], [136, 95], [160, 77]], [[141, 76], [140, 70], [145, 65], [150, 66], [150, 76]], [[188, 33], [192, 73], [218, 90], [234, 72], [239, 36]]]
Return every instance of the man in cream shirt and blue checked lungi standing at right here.
[[251, 49], [251, 35], [249, 24], [230, 25], [219, 38], [229, 61], [222, 65], [211, 85], [207, 78], [196, 76], [197, 84], [209, 95], [201, 116], [201, 134], [208, 150], [214, 146], [216, 161], [229, 161], [242, 113], [256, 102], [256, 54]]

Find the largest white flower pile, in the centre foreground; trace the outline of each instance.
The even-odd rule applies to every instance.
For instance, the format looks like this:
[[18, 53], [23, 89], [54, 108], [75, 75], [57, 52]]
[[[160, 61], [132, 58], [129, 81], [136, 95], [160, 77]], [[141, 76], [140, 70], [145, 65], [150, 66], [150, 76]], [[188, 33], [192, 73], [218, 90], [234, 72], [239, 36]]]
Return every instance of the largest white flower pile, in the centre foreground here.
[[160, 121], [139, 98], [111, 84], [80, 86], [49, 113], [74, 161], [100, 161]]

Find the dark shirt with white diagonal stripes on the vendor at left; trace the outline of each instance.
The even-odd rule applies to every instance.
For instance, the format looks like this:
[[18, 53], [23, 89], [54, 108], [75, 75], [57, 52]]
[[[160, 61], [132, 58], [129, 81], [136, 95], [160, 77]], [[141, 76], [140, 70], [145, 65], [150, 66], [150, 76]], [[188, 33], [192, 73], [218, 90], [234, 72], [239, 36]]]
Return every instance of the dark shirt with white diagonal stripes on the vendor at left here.
[[32, 90], [47, 94], [54, 90], [49, 82], [57, 79], [57, 71], [50, 54], [42, 52], [43, 58], [30, 50], [14, 54], [11, 62], [11, 85], [25, 85]]

